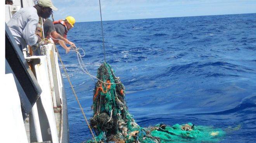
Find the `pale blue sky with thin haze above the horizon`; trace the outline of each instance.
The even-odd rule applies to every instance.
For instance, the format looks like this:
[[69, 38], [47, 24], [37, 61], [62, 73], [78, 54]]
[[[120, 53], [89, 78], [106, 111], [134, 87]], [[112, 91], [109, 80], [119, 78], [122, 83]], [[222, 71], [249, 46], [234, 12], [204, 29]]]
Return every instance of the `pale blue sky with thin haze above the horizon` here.
[[[54, 19], [100, 21], [99, 0], [52, 0]], [[102, 20], [256, 13], [256, 0], [100, 0]]]

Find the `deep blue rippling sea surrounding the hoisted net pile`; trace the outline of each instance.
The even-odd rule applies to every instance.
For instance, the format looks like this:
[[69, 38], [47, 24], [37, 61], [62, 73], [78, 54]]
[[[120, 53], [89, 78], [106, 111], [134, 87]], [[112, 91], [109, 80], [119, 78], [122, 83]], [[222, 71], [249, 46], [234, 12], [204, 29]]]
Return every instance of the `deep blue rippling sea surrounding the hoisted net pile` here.
[[[103, 21], [106, 62], [126, 88], [126, 103], [142, 127], [193, 123], [232, 129], [222, 143], [256, 141], [256, 13]], [[100, 22], [79, 22], [68, 39], [86, 52], [97, 76], [104, 62]], [[62, 61], [86, 118], [95, 82], [75, 52]], [[92, 139], [63, 68], [71, 143]]]

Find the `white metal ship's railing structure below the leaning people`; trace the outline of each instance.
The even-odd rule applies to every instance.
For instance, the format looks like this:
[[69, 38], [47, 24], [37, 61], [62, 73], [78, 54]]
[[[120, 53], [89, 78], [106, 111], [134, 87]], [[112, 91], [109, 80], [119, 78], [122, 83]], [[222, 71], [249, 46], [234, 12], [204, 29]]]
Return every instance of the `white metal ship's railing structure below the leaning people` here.
[[[32, 115], [29, 118], [29, 126], [33, 127], [32, 130], [30, 130], [30, 132], [32, 131], [32, 133], [30, 133], [30, 140], [31, 142], [52, 140], [53, 143], [58, 143], [59, 138], [54, 108], [62, 106], [62, 77], [54, 44], [43, 46], [43, 54], [44, 56], [26, 57], [26, 59], [31, 59], [31, 61], [37, 61], [31, 62], [31, 64], [35, 70], [38, 84], [42, 89], [42, 94], [36, 102], [37, 107], [33, 106], [37, 111], [33, 109]], [[38, 61], [40, 61], [40, 63], [38, 63]], [[57, 121], [57, 123], [62, 122]], [[40, 128], [42, 132], [40, 132], [38, 128]]]

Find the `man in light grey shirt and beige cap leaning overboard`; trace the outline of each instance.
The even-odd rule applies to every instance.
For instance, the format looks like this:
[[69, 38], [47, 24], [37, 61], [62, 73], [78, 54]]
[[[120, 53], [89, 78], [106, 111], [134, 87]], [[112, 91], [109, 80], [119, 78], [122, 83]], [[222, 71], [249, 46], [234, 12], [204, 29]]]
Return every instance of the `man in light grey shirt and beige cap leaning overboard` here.
[[39, 17], [49, 18], [52, 10], [58, 9], [51, 0], [38, 0], [37, 5], [21, 8], [13, 15], [7, 25], [21, 51], [27, 45], [35, 45], [42, 40], [35, 34]]

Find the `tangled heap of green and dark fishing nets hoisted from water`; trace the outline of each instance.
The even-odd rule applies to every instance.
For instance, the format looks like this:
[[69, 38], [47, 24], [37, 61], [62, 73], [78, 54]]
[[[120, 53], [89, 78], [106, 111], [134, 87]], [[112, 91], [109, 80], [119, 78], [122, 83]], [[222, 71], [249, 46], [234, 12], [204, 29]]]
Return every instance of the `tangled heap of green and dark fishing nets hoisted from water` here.
[[[95, 84], [93, 116], [90, 118], [90, 126], [97, 135], [95, 137], [97, 142], [216, 142], [225, 135], [221, 129], [214, 129], [212, 126], [195, 126], [192, 123], [173, 126], [157, 124], [142, 128], [129, 113], [125, 101], [125, 86], [114, 75], [109, 64], [104, 62], [99, 67], [97, 78], [100, 81]], [[95, 142], [95, 140], [87, 142]]]

